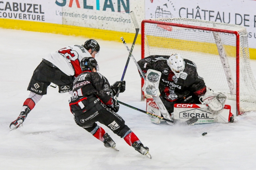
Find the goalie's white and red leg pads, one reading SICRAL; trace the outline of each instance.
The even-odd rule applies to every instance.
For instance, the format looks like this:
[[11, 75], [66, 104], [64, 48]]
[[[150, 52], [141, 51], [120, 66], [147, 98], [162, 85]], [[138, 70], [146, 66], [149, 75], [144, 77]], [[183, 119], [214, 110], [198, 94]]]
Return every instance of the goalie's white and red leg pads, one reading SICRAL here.
[[[155, 115], [161, 116], [160, 111], [152, 98], [147, 99], [147, 111]], [[160, 124], [164, 122], [159, 118], [149, 116], [152, 123]], [[192, 117], [197, 117], [198, 120], [195, 124], [206, 123], [228, 123], [234, 122], [233, 114], [231, 113], [231, 106], [225, 105], [220, 111], [213, 111], [209, 109], [206, 104], [174, 104], [174, 112], [171, 115], [174, 120], [185, 122]]]

